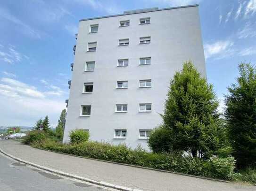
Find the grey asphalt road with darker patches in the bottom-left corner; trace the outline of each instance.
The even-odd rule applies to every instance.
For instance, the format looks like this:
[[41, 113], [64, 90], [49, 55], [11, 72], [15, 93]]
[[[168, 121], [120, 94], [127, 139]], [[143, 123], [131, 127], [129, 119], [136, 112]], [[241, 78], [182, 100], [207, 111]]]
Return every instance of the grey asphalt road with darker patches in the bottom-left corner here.
[[[106, 191], [97, 185], [74, 182], [0, 154], [0, 191]], [[112, 189], [111, 189], [112, 190]]]

